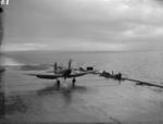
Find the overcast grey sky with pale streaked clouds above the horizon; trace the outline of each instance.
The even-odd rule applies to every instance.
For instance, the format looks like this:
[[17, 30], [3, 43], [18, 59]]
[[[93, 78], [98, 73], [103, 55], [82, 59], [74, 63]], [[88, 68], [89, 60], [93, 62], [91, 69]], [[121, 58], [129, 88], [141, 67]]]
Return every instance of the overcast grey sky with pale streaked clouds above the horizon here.
[[163, 0], [10, 0], [5, 51], [163, 50]]

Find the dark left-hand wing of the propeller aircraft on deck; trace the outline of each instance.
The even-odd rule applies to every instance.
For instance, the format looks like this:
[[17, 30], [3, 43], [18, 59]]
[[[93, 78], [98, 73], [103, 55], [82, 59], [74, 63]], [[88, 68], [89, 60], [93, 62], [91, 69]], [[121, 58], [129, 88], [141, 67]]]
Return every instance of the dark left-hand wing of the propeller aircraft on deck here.
[[62, 75], [54, 75], [54, 74], [27, 74], [27, 75], [36, 76], [38, 78], [45, 78], [45, 79], [54, 79], [54, 78], [62, 77]]

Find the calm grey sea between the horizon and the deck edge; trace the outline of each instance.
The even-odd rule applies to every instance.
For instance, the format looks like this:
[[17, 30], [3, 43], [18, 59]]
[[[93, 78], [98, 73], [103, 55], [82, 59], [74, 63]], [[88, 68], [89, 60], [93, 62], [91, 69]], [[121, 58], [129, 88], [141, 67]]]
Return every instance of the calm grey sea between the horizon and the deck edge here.
[[121, 72], [127, 77], [151, 82], [163, 82], [163, 51], [135, 52], [57, 52], [21, 51], [10, 52], [7, 65], [53, 64], [66, 66], [70, 59], [74, 67], [93, 66], [101, 71]]

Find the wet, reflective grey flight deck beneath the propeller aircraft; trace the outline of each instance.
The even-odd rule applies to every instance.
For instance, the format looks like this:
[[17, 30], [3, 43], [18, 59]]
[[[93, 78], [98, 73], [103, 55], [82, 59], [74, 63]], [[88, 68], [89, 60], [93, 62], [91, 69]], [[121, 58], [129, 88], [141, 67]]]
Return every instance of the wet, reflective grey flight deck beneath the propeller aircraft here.
[[13, 71], [5, 75], [9, 122], [163, 123], [161, 88], [87, 75], [77, 78], [76, 88], [67, 79], [58, 90], [52, 80]]

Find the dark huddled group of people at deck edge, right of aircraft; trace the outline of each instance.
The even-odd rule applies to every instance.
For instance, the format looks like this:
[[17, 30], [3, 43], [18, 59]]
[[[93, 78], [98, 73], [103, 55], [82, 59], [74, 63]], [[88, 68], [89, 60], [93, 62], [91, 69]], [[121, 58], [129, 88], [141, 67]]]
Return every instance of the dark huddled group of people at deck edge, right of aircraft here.
[[121, 73], [117, 73], [117, 74], [114, 74], [114, 72], [112, 71], [112, 73], [110, 74], [109, 72], [106, 71], [103, 71], [100, 76], [104, 76], [104, 77], [108, 77], [108, 78], [114, 78], [114, 79], [122, 79], [122, 74]]

